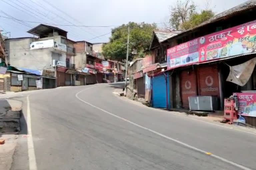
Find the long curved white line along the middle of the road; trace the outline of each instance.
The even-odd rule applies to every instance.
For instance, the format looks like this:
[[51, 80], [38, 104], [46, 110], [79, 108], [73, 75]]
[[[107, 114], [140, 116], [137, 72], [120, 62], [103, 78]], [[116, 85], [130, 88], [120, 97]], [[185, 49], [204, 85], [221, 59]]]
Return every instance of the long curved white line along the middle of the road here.
[[[94, 88], [94, 87], [97, 87], [97, 86], [93, 86], [93, 87], [90, 87], [90, 88]], [[234, 166], [236, 166], [236, 167], [239, 167], [239, 168], [241, 168], [241, 169], [243, 169], [243, 170], [252, 170], [252, 169], [250, 169], [250, 168], [247, 168], [247, 167], [245, 167], [245, 166], [243, 166], [243, 165], [240, 165], [240, 164], [237, 164], [237, 163], [235, 163], [235, 162], [229, 161], [229, 160], [227, 160], [227, 159], [225, 159], [225, 158], [222, 158], [222, 157], [220, 157], [220, 156], [217, 156], [217, 155], [214, 155], [214, 154], [209, 154], [209, 152], [206, 152], [206, 151], [204, 151], [204, 150], [198, 149], [198, 148], [196, 148], [196, 147], [194, 147], [194, 146], [191, 146], [191, 145], [186, 144], [186, 143], [184, 143], [184, 142], [181, 142], [181, 141], [179, 141], [179, 140], [173, 139], [173, 138], [171, 138], [171, 137], [169, 137], [169, 136], [166, 136], [166, 135], [164, 135], [164, 134], [162, 134], [162, 133], [159, 133], [159, 132], [157, 132], [157, 131], [154, 131], [154, 130], [152, 130], [152, 129], [149, 129], [149, 128], [140, 126], [140, 125], [138, 125], [138, 124], [136, 124], [136, 123], [134, 123], [134, 122], [131, 122], [131, 121], [129, 121], [129, 120], [127, 120], [127, 119], [124, 119], [124, 118], [122, 118], [122, 117], [120, 117], [120, 116], [117, 116], [117, 115], [115, 115], [115, 114], [113, 114], [113, 113], [110, 113], [110, 112], [108, 112], [108, 111], [106, 111], [106, 110], [104, 110], [104, 109], [101, 109], [101, 108], [97, 107], [97, 106], [94, 106], [94, 105], [92, 105], [92, 104], [90, 104], [90, 103], [88, 103], [88, 102], [86, 102], [86, 101], [84, 101], [84, 100], [82, 100], [81, 98], [78, 97], [78, 94], [79, 94], [79, 93], [81, 93], [81, 92], [83, 92], [83, 91], [85, 91], [85, 90], [88, 90], [88, 89], [90, 89], [90, 88], [81, 90], [80, 92], [76, 93], [76, 98], [77, 98], [78, 100], [80, 100], [81, 102], [83, 102], [83, 103], [85, 103], [85, 104], [87, 104], [87, 105], [89, 105], [89, 106], [91, 106], [91, 107], [94, 107], [94, 108], [96, 108], [96, 109], [98, 109], [98, 110], [101, 110], [102, 112], [105, 112], [105, 113], [107, 113], [107, 114], [109, 114], [109, 115], [111, 115], [111, 116], [114, 116], [114, 117], [116, 117], [116, 118], [118, 118], [118, 119], [121, 119], [121, 120], [123, 120], [123, 121], [125, 121], [125, 122], [128, 122], [128, 123], [130, 123], [130, 124], [132, 124], [132, 125], [135, 125], [135, 126], [137, 126], [137, 127], [139, 127], [139, 128], [148, 130], [148, 131], [150, 131], [150, 132], [152, 132], [152, 133], [155, 133], [155, 134], [157, 134], [157, 135], [159, 135], [159, 136], [162, 136], [162, 137], [164, 137], [164, 138], [166, 138], [166, 139], [172, 140], [172, 141], [174, 141], [174, 142], [176, 142], [176, 143], [179, 143], [179, 144], [181, 144], [181, 145], [183, 145], [183, 146], [186, 146], [186, 147], [188, 147], [188, 148], [190, 148], [190, 149], [193, 149], [193, 150], [195, 150], [195, 151], [198, 151], [198, 152], [207, 154], [207, 155], [212, 156], [212, 157], [214, 157], [214, 158], [216, 158], [216, 159], [219, 159], [219, 160], [221, 160], [221, 161], [223, 161], [223, 162], [226, 162], [226, 163], [229, 163], [229, 164], [234, 165]]]

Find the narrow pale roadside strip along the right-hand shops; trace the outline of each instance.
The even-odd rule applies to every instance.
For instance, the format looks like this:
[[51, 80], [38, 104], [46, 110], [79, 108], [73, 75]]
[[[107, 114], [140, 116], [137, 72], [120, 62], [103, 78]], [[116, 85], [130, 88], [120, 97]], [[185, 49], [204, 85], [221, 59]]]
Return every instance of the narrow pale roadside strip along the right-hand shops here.
[[[120, 96], [119, 93], [123, 93], [122, 90], [120, 91], [120, 89], [115, 89], [115, 91], [113, 92], [113, 94], [115, 94], [117, 97]], [[183, 117], [186, 117], [188, 119], [194, 119], [196, 121], [209, 123], [209, 124], [212, 124], [212, 125], [215, 125], [215, 126], [234, 129], [234, 130], [243, 131], [243, 132], [246, 132], [246, 133], [256, 135], [256, 129], [255, 128], [220, 123], [220, 121], [223, 120], [222, 116], [214, 115], [214, 113], [208, 114], [208, 116], [196, 116], [194, 114], [187, 114], [186, 109], [178, 109], [178, 110], [170, 111], [170, 110], [167, 110], [167, 109], [148, 107], [148, 106], [146, 106], [146, 105], [144, 105], [144, 104], [142, 104], [138, 101], [131, 100], [131, 99], [123, 97], [123, 96], [120, 96], [119, 98], [121, 100], [125, 100], [129, 103], [132, 103], [132, 104], [135, 104], [135, 105], [138, 105], [138, 106], [141, 106], [141, 107], [146, 107], [146, 108], [149, 108], [149, 109], [153, 109], [153, 110], [158, 111], [158, 112], [163, 112], [163, 113], [167, 113], [167, 114], [174, 114], [174, 115], [177, 115], [177, 116], [183, 116]], [[220, 114], [220, 113], [218, 113], [218, 114]]]

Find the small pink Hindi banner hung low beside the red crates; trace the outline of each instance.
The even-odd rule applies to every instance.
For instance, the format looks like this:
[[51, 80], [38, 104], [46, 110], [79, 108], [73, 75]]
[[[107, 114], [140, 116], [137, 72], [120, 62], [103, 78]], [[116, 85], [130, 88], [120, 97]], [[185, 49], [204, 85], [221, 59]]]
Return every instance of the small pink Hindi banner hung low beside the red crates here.
[[256, 93], [233, 93], [238, 99], [238, 114], [256, 117]]

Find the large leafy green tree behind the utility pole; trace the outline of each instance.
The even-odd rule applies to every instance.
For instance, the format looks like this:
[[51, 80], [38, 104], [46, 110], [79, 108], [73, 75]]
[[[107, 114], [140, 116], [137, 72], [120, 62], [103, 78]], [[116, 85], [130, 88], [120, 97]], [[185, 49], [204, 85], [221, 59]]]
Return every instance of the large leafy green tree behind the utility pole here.
[[[156, 24], [130, 22], [129, 59], [143, 57], [151, 43], [152, 32]], [[126, 59], [128, 24], [114, 28], [109, 42], [102, 47], [103, 55], [108, 59], [122, 61]]]

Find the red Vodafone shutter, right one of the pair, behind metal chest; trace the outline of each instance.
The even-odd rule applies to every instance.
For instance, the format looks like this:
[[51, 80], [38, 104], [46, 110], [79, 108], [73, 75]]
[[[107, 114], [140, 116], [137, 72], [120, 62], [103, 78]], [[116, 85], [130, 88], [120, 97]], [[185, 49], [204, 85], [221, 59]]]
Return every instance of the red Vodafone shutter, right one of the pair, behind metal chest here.
[[220, 96], [217, 65], [201, 66], [198, 69], [199, 95]]

